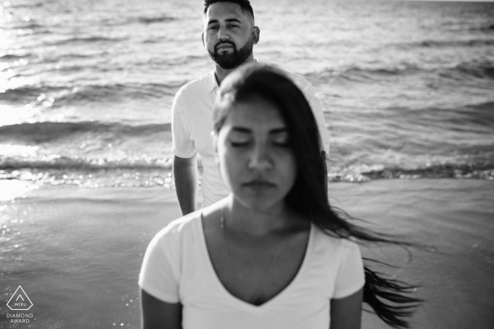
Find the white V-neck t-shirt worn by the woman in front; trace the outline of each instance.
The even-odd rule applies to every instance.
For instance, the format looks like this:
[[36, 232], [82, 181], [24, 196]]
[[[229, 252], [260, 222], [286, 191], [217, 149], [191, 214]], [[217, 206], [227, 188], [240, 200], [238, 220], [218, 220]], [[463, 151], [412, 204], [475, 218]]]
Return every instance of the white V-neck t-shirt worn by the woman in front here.
[[147, 247], [139, 285], [148, 294], [183, 306], [184, 329], [311, 328], [330, 326], [330, 299], [364, 284], [359, 247], [311, 225], [301, 268], [275, 297], [255, 306], [230, 294], [207, 252], [200, 211], [171, 222]]

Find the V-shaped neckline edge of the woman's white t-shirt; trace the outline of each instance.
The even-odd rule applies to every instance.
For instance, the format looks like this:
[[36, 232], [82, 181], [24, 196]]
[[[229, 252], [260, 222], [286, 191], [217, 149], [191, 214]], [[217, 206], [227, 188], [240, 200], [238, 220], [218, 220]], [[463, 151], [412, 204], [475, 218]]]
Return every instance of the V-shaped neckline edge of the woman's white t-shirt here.
[[297, 271], [295, 277], [290, 281], [290, 283], [283, 288], [282, 291], [278, 292], [275, 294], [275, 296], [271, 297], [268, 299], [266, 302], [260, 305], [254, 305], [249, 302], [244, 301], [243, 299], [240, 299], [239, 297], [234, 296], [234, 294], [231, 294], [227, 290], [226, 287], [224, 287], [223, 283], [221, 280], [219, 280], [219, 277], [215, 271], [215, 267], [212, 265], [210, 253], [207, 250], [207, 242], [206, 242], [206, 236], [204, 234], [204, 226], [203, 226], [203, 213], [200, 214], [200, 221], [198, 221], [199, 225], [199, 232], [200, 232], [200, 239], [201, 239], [201, 251], [203, 252], [205, 259], [207, 260], [207, 267], [210, 276], [215, 280], [215, 283], [219, 286], [219, 289], [222, 291], [222, 294], [227, 296], [227, 298], [233, 300], [237, 304], [246, 307], [248, 309], [254, 309], [254, 310], [264, 310], [269, 308], [270, 305], [274, 304], [278, 299], [282, 299], [282, 297], [289, 292], [289, 290], [293, 289], [293, 286], [296, 285], [296, 283], [301, 280], [300, 277], [303, 275], [303, 272], [305, 271], [305, 268], [307, 267], [308, 259], [310, 258], [310, 252], [312, 249], [312, 241], [313, 241], [313, 235], [314, 235], [314, 228], [313, 224], [311, 223], [311, 228], [309, 229], [309, 237], [308, 241], [306, 244], [306, 251], [303, 254], [303, 260], [301, 263], [301, 266], [299, 267], [299, 271]]

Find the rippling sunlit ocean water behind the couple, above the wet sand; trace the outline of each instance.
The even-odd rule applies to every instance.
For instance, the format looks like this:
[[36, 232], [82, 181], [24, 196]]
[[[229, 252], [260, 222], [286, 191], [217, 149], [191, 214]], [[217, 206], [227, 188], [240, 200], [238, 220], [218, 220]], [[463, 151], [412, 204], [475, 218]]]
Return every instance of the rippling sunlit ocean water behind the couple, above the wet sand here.
[[[251, 3], [255, 57], [325, 104], [331, 181], [494, 180], [494, 3]], [[202, 28], [200, 0], [0, 0], [0, 180], [173, 188]]]

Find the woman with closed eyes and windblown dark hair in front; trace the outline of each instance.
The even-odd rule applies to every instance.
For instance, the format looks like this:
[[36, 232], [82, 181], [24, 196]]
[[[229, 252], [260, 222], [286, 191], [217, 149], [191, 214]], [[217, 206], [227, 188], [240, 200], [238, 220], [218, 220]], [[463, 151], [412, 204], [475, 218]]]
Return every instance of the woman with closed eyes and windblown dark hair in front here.
[[303, 94], [276, 68], [243, 66], [224, 80], [214, 143], [231, 194], [150, 242], [143, 328], [354, 329], [362, 300], [406, 327], [417, 300], [402, 294], [409, 286], [364, 274], [354, 240], [389, 241], [328, 204], [317, 131]]

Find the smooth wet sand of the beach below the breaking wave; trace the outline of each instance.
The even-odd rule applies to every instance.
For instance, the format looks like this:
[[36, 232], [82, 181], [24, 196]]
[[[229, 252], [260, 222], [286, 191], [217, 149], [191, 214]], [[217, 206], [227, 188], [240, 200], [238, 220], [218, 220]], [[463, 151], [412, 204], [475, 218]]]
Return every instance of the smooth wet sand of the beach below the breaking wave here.
[[[378, 180], [332, 183], [332, 204], [372, 228], [428, 244], [363, 250], [401, 266], [388, 272], [421, 285], [426, 302], [411, 328], [492, 328], [494, 182]], [[19, 285], [33, 306], [31, 328], [139, 328], [137, 278], [147, 243], [179, 216], [160, 187], [44, 186], [0, 201], [0, 328]], [[7, 230], [8, 229], [8, 230]], [[388, 328], [364, 314], [363, 328]]]

